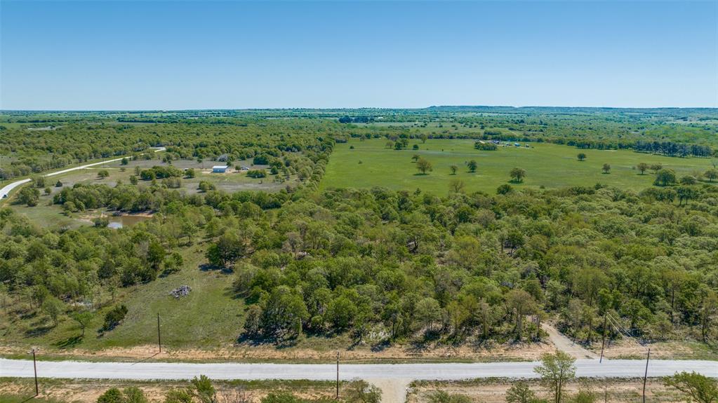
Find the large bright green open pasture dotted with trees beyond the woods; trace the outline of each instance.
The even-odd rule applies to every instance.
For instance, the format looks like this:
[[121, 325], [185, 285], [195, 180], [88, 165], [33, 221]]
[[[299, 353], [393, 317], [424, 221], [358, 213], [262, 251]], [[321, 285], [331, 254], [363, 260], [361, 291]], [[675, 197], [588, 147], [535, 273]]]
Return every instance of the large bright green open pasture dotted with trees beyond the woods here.
[[[473, 140], [410, 141], [409, 148], [397, 151], [386, 148], [385, 139], [360, 141], [350, 139], [338, 143], [330, 157], [321, 189], [370, 188], [383, 186], [395, 190], [421, 189], [432, 194], [449, 191], [449, 181], [460, 179], [466, 191], [494, 193], [501, 184], [510, 183], [509, 171], [514, 167], [526, 170], [526, 179], [518, 188], [546, 189], [564, 186], [593, 186], [597, 183], [640, 190], [653, 186], [650, 171], [640, 175], [636, 164], [661, 163], [673, 169], [677, 176], [702, 173], [712, 168], [709, 158], [676, 158], [633, 151], [579, 150], [572, 146], [549, 143], [528, 143], [531, 148], [499, 147], [496, 151], [478, 151]], [[412, 150], [414, 144], [419, 150]], [[351, 146], [354, 148], [352, 149]], [[585, 153], [585, 161], [578, 161], [578, 153]], [[433, 171], [419, 174], [411, 159], [419, 154], [433, 165]], [[466, 163], [475, 160], [478, 169], [470, 173]], [[602, 166], [611, 166], [610, 174], [602, 174]], [[459, 167], [452, 175], [450, 166]]]

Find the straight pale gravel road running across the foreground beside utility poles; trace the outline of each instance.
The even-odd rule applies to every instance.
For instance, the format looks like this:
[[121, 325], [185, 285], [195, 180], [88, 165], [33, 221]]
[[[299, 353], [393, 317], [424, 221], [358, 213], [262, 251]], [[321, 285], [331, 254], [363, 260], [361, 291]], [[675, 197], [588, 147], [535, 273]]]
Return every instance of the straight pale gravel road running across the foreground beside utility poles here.
[[[341, 379], [457, 380], [507, 376], [533, 378], [538, 362], [500, 362], [479, 364], [345, 364]], [[577, 375], [589, 377], [642, 377], [645, 361], [594, 359], [576, 361]], [[718, 361], [652, 360], [648, 376], [672, 375], [676, 371], [696, 371], [718, 378]], [[32, 376], [32, 361], [0, 359], [0, 376]], [[336, 379], [332, 364], [187, 364], [142, 362], [38, 361], [37, 374], [46, 378], [88, 379], [190, 379], [205, 374], [212, 379]]]

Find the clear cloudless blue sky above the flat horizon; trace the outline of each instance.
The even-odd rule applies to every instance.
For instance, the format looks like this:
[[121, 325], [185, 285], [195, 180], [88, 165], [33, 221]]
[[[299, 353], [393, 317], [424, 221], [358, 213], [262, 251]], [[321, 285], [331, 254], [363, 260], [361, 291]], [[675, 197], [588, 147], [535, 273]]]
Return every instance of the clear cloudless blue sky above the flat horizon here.
[[718, 107], [718, 1], [6, 1], [1, 109]]

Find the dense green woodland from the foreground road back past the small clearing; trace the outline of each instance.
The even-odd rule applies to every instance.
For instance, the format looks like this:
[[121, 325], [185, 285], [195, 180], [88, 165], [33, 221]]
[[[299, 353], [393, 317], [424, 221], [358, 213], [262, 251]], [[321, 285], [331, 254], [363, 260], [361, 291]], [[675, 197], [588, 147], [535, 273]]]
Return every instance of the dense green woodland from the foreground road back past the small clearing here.
[[[292, 343], [305, 333], [348, 332], [362, 341], [378, 332], [387, 343], [536, 341], [549, 318], [587, 343], [604, 332], [646, 341], [718, 338], [713, 184], [640, 193], [508, 184], [494, 194], [447, 186], [444, 196], [318, 191], [335, 140], [369, 129], [318, 119], [85, 124], [23, 141], [10, 131], [16, 134], [2, 136], [1, 146], [17, 161], [47, 161], [41, 155], [50, 151], [87, 160], [162, 145], [165, 166], [179, 158], [260, 158], [274, 174], [303, 172], [302, 182], [273, 194], [188, 195], [147, 180], [55, 195], [66, 212], [156, 213], [119, 230], [101, 223], [42, 229], [0, 209], [4, 293], [54, 323], [65, 315], [81, 323], [81, 313], [108, 302], [103, 295], [172, 275], [184, 264], [179, 251], [200, 243], [208, 267], [233, 272], [228, 289], [246, 303], [239, 340]], [[123, 316], [121, 306], [110, 313]], [[103, 331], [121, 323], [116, 316]]]

